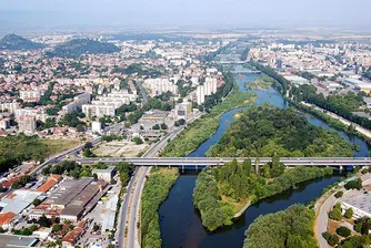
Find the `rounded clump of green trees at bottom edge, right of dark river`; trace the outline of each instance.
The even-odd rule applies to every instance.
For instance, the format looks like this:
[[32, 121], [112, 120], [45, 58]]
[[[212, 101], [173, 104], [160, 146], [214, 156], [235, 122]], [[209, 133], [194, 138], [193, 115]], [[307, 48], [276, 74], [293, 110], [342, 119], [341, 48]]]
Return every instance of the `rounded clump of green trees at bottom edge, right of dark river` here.
[[245, 231], [243, 248], [314, 248], [314, 213], [302, 205], [258, 217]]

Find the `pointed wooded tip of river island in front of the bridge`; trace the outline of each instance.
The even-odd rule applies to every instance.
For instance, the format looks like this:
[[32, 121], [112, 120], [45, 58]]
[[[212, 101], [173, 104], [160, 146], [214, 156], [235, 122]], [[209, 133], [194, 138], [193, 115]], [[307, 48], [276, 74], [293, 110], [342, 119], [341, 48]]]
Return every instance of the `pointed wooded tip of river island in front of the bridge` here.
[[193, 190], [193, 204], [200, 210], [202, 225], [209, 230], [230, 225], [231, 218], [244, 205], [273, 196], [305, 180], [332, 174], [332, 168], [295, 167], [283, 172], [279, 161], [268, 166], [265, 178], [253, 172], [250, 159], [233, 161], [218, 168], [203, 169]]

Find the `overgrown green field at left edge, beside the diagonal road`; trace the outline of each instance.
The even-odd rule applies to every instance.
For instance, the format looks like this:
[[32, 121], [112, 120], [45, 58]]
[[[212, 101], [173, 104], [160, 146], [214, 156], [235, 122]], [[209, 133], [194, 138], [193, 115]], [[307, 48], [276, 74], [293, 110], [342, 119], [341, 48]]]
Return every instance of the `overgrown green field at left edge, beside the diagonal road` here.
[[24, 161], [43, 161], [50, 148], [37, 136], [0, 137], [0, 173], [21, 164]]

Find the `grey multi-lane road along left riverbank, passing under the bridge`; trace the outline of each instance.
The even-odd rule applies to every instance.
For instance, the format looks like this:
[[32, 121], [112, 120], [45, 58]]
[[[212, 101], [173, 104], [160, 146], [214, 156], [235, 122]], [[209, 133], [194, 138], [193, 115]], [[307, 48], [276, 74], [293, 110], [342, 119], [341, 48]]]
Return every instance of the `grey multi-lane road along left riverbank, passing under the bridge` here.
[[[167, 145], [169, 140], [176, 137], [183, 127], [176, 128], [173, 132], [167, 134], [159, 141], [158, 143], [153, 144], [147, 153], [143, 154], [142, 157], [154, 157], [157, 154]], [[124, 196], [121, 211], [120, 211], [120, 221], [118, 226], [118, 247], [123, 248], [133, 248], [140, 247], [138, 242], [138, 232], [137, 232], [137, 223], [138, 223], [138, 215], [140, 210], [140, 198], [142, 188], [146, 182], [146, 175], [149, 173], [150, 167], [139, 167], [133, 177], [131, 178], [128, 185], [128, 193]], [[128, 223], [128, 226], [127, 226]], [[127, 234], [127, 237], [126, 237]]]

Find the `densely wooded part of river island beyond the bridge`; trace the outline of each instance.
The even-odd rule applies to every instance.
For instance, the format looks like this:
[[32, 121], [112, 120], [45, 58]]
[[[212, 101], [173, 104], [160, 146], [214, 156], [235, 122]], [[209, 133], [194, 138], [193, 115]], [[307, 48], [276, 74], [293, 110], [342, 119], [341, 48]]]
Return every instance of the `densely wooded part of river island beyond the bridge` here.
[[269, 105], [238, 116], [208, 156], [253, 157], [352, 156], [352, 146], [338, 133], [314, 126], [293, 110]]

